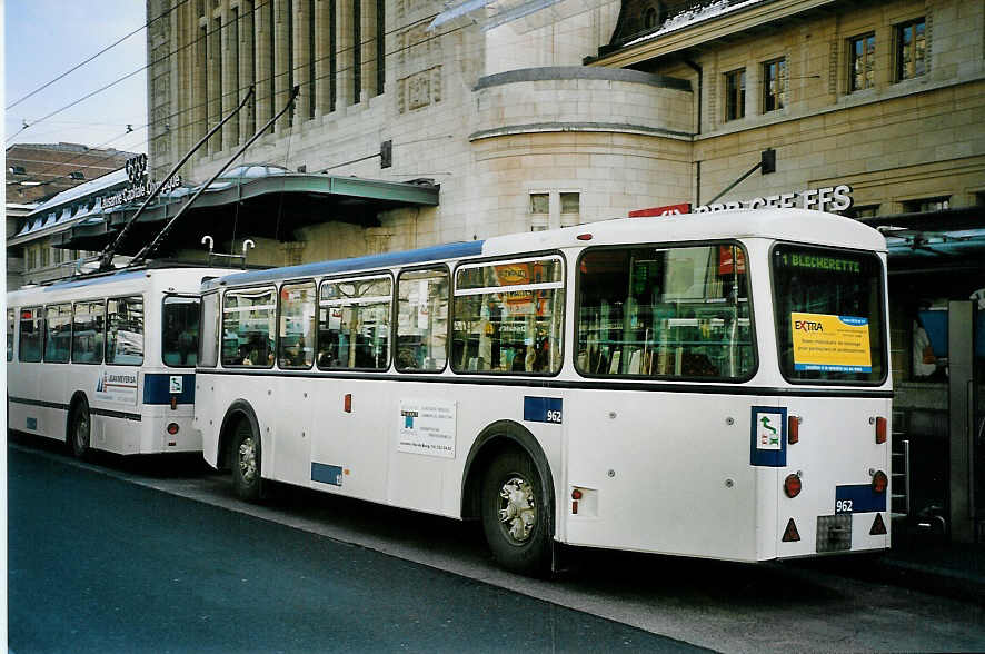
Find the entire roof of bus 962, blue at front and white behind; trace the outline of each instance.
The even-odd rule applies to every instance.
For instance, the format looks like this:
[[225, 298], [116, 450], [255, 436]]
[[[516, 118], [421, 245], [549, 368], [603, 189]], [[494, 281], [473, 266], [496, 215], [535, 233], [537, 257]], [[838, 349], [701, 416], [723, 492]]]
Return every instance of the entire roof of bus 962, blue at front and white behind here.
[[[578, 238], [579, 235], [591, 235], [591, 238], [583, 240]], [[740, 238], [773, 238], [886, 251], [886, 239], [882, 234], [852, 218], [806, 209], [737, 209], [654, 218], [618, 218], [563, 229], [496, 236], [486, 240], [236, 272], [210, 279], [202, 285], [202, 288], [208, 290], [225, 285], [242, 286], [280, 279], [320, 277], [335, 272], [375, 270], [461, 257], [500, 256], [599, 245]]]

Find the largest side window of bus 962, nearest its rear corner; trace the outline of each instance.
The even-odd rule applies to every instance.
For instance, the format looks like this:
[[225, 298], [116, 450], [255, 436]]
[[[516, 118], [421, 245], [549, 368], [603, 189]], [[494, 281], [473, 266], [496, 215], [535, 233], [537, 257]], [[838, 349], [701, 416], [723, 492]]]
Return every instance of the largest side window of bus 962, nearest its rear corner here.
[[756, 369], [746, 256], [737, 245], [598, 248], [583, 255], [583, 375], [748, 378]]

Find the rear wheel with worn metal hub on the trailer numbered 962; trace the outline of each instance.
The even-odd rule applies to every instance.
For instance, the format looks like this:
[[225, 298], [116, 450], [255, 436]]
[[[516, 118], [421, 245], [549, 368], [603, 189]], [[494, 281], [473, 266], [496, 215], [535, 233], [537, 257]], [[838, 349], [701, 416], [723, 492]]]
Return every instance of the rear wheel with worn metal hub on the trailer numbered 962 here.
[[499, 564], [540, 576], [550, 567], [550, 511], [534, 462], [516, 449], [501, 452], [482, 479], [482, 531]]

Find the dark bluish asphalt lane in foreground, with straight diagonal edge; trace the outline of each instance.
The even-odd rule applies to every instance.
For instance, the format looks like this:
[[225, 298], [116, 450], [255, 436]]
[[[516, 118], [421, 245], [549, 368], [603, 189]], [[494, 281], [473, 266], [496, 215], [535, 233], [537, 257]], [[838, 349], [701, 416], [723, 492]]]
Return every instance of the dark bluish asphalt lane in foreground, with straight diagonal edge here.
[[44, 452], [8, 457], [16, 653], [698, 650]]

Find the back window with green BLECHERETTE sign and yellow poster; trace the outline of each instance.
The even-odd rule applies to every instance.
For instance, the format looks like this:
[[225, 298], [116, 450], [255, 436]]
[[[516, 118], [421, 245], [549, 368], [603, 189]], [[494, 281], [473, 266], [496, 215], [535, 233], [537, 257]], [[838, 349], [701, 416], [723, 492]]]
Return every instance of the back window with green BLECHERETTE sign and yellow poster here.
[[876, 255], [777, 245], [773, 293], [785, 378], [842, 384], [885, 379], [883, 266]]

